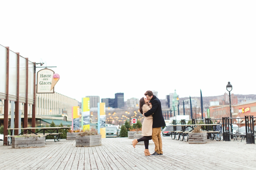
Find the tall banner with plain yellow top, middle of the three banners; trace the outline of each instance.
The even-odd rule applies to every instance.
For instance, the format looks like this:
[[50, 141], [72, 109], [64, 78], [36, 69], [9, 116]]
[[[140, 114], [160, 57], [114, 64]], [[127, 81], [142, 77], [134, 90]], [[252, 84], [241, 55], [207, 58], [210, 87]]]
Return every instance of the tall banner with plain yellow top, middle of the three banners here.
[[90, 98], [82, 98], [82, 127], [90, 130]]

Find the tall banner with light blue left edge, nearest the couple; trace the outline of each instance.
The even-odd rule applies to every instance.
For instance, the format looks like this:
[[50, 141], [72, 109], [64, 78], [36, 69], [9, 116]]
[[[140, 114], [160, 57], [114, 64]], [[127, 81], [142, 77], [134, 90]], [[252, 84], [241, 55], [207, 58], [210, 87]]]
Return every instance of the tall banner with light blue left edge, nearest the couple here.
[[106, 138], [106, 103], [98, 103], [98, 133]]

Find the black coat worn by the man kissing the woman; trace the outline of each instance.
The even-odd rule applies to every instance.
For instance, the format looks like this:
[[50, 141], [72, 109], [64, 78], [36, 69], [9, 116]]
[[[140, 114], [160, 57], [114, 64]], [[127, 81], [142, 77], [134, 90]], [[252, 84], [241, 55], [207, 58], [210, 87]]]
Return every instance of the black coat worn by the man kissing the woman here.
[[152, 108], [146, 113], [144, 113], [144, 116], [148, 117], [154, 113], [152, 115], [153, 116], [152, 128], [165, 126], [165, 119], [163, 117], [160, 100], [155, 95], [153, 95], [152, 99], [149, 102], [152, 104]]

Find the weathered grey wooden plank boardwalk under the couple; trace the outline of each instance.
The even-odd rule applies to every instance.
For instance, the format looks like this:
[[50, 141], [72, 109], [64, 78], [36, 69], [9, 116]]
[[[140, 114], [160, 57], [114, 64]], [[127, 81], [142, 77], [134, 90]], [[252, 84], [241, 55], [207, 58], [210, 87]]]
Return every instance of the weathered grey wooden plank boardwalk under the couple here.
[[[256, 169], [256, 146], [245, 141], [211, 141], [188, 144], [162, 137], [161, 156], [144, 156], [144, 145], [132, 139], [106, 138], [101, 146], [75, 147], [75, 140], [54, 142], [46, 147], [12, 149], [0, 141], [0, 169], [3, 170], [82, 170], [82, 169]], [[150, 141], [150, 153], [154, 151]]]

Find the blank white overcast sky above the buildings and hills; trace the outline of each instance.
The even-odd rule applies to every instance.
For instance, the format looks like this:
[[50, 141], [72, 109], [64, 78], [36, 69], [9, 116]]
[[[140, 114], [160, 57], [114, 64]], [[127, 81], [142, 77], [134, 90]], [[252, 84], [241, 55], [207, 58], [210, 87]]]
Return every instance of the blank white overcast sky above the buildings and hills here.
[[[125, 100], [255, 93], [256, 1], [1, 1], [0, 44], [60, 75], [55, 91]], [[44, 65], [45, 66], [45, 65]], [[39, 68], [37, 68], [39, 71]]]

